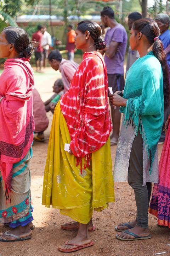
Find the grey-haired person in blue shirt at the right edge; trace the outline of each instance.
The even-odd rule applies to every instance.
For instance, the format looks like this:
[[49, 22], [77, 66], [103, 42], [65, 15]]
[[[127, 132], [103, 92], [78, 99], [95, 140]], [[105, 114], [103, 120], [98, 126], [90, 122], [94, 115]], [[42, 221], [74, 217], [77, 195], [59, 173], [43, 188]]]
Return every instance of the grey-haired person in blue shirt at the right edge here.
[[[158, 16], [155, 18], [155, 21], [157, 22], [158, 27], [160, 29], [159, 39], [163, 43], [164, 50], [166, 53], [166, 60], [167, 60], [169, 71], [170, 71], [170, 31], [169, 31], [170, 18], [167, 14], [158, 14]], [[162, 133], [161, 133], [158, 144], [164, 143], [164, 140], [165, 140], [164, 126], [168, 119], [169, 113], [170, 113], [170, 105], [166, 108], [166, 110], [164, 110], [164, 123], [163, 123]]]

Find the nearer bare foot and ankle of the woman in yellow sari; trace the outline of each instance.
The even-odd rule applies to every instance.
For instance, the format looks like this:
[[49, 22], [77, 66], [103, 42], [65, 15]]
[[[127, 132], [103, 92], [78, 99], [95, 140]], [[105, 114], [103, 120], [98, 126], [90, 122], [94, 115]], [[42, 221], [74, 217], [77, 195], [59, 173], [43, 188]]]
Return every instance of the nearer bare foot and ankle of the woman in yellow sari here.
[[[60, 245], [58, 246], [58, 248], [62, 250], [70, 250], [70, 249], [78, 248], [79, 246], [90, 244], [90, 242], [91, 242], [91, 239], [89, 236], [88, 224], [79, 223], [79, 230], [78, 230], [77, 236], [72, 240], [68, 241], [68, 244]], [[79, 246], [69, 245], [69, 244], [77, 244]]]

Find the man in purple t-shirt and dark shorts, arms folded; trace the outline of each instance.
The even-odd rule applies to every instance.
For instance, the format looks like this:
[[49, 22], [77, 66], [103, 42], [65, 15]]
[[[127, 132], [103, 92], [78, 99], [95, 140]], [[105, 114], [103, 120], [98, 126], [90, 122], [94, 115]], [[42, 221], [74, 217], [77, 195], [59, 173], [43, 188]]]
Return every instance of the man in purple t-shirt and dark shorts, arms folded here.
[[[109, 27], [106, 36], [106, 48], [104, 61], [107, 67], [108, 86], [112, 87], [113, 93], [124, 90], [124, 59], [128, 36], [125, 28], [114, 18], [114, 11], [106, 6], [101, 11], [101, 21], [105, 27]], [[111, 145], [116, 145], [119, 137], [120, 117], [119, 108], [111, 106], [113, 133], [111, 135]]]

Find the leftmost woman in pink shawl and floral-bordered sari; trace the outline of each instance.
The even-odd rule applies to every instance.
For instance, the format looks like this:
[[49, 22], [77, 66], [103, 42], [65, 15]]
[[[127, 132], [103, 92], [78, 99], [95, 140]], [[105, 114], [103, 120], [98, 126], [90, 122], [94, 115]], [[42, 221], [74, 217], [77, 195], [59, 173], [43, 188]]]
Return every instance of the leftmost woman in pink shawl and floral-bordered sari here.
[[12, 228], [0, 234], [2, 242], [29, 239], [34, 228], [29, 170], [34, 77], [29, 59], [36, 45], [18, 27], [0, 34], [0, 58], [7, 58], [0, 76], [0, 223]]

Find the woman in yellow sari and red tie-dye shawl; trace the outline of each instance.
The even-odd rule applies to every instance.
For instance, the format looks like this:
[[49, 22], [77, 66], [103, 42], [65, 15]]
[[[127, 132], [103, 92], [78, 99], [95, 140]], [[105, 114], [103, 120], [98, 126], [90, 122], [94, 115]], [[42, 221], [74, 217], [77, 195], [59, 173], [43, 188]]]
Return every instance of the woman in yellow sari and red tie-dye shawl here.
[[106, 44], [96, 22], [78, 23], [75, 33], [83, 62], [53, 115], [42, 194], [42, 204], [75, 220], [73, 229], [78, 225], [77, 236], [58, 247], [63, 252], [94, 245], [89, 237], [93, 210], [114, 202], [107, 71], [97, 52]]

